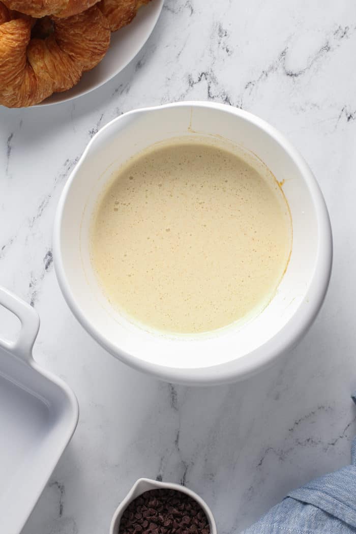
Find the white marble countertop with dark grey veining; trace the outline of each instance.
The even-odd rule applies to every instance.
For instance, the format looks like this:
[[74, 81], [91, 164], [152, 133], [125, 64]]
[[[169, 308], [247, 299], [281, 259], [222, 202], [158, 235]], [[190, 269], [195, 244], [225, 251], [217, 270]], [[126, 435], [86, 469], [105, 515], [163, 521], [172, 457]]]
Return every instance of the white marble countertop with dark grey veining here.
[[[140, 476], [184, 483], [220, 534], [349, 462], [356, 434], [356, 4], [166, 0], [131, 64], [70, 103], [0, 109], [0, 284], [41, 316], [35, 358], [74, 389], [78, 428], [23, 534], [106, 534]], [[70, 313], [52, 224], [94, 133], [136, 107], [214, 100], [280, 129], [317, 176], [334, 232], [329, 292], [283, 362], [246, 382], [173, 386], [106, 354]]]

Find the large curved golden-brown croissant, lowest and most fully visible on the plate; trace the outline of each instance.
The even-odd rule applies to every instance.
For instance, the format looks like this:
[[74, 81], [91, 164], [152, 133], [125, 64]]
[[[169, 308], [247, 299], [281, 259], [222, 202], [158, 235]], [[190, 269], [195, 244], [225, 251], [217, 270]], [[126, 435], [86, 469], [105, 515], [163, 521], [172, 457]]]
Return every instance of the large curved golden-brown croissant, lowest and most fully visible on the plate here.
[[109, 42], [109, 23], [97, 6], [36, 22], [0, 2], [0, 104], [32, 106], [70, 89], [104, 57]]

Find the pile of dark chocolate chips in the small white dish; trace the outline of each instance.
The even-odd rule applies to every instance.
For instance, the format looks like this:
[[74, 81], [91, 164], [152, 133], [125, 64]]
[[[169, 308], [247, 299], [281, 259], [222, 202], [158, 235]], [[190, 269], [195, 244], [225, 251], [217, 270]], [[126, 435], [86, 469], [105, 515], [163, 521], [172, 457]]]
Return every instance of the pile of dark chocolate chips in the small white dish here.
[[146, 491], [125, 509], [118, 534], [210, 534], [208, 518], [191, 497], [175, 490]]

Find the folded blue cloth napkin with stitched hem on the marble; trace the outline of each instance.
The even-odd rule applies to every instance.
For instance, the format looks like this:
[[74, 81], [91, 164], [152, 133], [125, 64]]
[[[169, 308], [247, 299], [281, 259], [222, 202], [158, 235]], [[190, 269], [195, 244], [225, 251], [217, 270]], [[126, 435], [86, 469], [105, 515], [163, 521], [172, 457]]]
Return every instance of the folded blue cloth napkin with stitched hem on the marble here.
[[[355, 398], [353, 397], [356, 403]], [[352, 464], [291, 491], [241, 534], [350, 534], [356, 532], [356, 437]]]

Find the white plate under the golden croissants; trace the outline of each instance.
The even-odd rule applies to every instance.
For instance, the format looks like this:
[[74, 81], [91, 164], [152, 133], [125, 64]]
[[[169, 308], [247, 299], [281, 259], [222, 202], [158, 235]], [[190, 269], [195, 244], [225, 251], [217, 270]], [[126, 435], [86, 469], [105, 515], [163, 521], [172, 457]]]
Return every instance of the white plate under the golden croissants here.
[[111, 35], [110, 48], [99, 65], [83, 74], [68, 91], [53, 93], [38, 106], [50, 106], [77, 98], [111, 80], [138, 54], [151, 35], [162, 11], [164, 0], [152, 0], [140, 7], [133, 21]]

